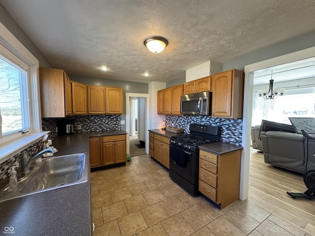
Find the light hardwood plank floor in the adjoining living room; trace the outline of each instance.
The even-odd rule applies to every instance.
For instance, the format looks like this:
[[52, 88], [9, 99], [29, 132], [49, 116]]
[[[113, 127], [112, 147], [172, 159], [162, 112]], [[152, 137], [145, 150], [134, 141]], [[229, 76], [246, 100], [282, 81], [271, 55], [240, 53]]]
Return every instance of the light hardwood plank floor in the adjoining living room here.
[[272, 168], [263, 154], [251, 150], [248, 201], [272, 212], [292, 225], [315, 234], [315, 201], [293, 199], [286, 191], [304, 192], [303, 176]]

